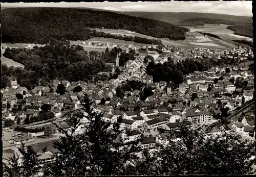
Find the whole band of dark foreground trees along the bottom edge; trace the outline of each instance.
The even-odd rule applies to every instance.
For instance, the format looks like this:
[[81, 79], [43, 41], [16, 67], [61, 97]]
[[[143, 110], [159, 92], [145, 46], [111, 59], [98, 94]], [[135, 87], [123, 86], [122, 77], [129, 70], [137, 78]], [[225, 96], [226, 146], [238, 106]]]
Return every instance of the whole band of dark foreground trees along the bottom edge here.
[[[156, 142], [154, 147], [142, 148], [138, 140], [123, 145], [120, 135], [129, 135], [129, 130], [120, 129], [121, 117], [111, 125], [102, 119], [103, 114], [94, 111], [89, 98], [83, 101], [83, 110], [90, 124], [83, 134], [75, 135], [79, 126], [80, 112], [69, 115], [70, 131], [58, 124], [63, 136], [54, 140], [54, 161], [41, 164], [39, 154], [32, 146], [18, 148], [9, 164], [4, 163], [4, 176], [32, 177], [78, 176], [78, 175], [193, 175], [193, 174], [251, 174], [254, 159], [254, 141], [245, 140], [233, 131], [222, 131], [220, 135], [202, 132], [181, 125], [179, 130], [159, 133], [165, 137], [166, 145]], [[161, 139], [161, 138], [160, 138]], [[46, 152], [47, 146], [42, 146]], [[49, 149], [50, 150], [50, 149]], [[19, 165], [18, 159], [21, 163]], [[238, 160], [239, 159], [239, 160]]]

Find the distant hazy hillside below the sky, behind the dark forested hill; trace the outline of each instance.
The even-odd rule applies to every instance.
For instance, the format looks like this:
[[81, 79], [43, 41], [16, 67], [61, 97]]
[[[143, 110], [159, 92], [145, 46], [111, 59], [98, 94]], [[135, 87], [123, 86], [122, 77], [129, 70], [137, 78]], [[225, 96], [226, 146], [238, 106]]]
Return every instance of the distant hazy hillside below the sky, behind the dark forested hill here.
[[[210, 24], [228, 24], [227, 29], [232, 30], [234, 34], [251, 37], [252, 34], [252, 17], [235, 16], [225, 14], [211, 13], [190, 13], [190, 12], [120, 12], [126, 15], [146, 17], [155, 20], [161, 20], [176, 24], [177, 26], [204, 26]], [[202, 18], [203, 17], [203, 18]]]

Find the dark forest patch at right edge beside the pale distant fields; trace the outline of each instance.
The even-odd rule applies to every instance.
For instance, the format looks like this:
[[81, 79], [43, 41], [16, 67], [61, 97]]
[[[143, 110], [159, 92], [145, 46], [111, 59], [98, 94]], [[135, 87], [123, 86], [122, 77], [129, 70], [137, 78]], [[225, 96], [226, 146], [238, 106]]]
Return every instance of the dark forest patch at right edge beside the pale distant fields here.
[[228, 26], [227, 29], [232, 30], [234, 32], [234, 34], [236, 34], [236, 35], [253, 38], [251, 23], [249, 23], [249, 24], [248, 23], [245, 23], [245, 24], [240, 23], [240, 24], [237, 24], [234, 26]]

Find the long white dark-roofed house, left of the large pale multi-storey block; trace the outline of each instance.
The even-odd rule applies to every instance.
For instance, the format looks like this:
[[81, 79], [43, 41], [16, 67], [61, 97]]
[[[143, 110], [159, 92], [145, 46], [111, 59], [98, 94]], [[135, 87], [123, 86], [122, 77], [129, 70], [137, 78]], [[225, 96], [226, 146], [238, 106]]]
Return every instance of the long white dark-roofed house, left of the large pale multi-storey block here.
[[156, 119], [148, 120], [144, 122], [141, 126], [138, 126], [141, 132], [156, 132], [162, 127], [162, 124], [168, 123], [168, 119], [165, 117], [159, 117]]

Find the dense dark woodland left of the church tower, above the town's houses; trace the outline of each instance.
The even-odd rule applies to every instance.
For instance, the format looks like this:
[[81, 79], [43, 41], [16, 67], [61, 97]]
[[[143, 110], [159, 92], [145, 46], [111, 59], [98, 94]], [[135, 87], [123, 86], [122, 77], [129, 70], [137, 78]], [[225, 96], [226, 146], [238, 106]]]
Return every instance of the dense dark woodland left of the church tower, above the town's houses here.
[[[92, 79], [100, 71], [111, 71], [112, 67], [105, 63], [114, 63], [118, 48], [109, 52], [88, 52], [82, 46], [72, 46], [69, 41], [54, 41], [44, 47], [34, 46], [32, 49], [7, 48], [4, 57], [24, 64], [14, 68], [3, 65], [5, 86], [9, 78], [16, 78], [20, 86], [29, 90], [39, 83], [48, 86], [50, 80], [86, 81]], [[119, 49], [120, 52], [120, 49]]]

